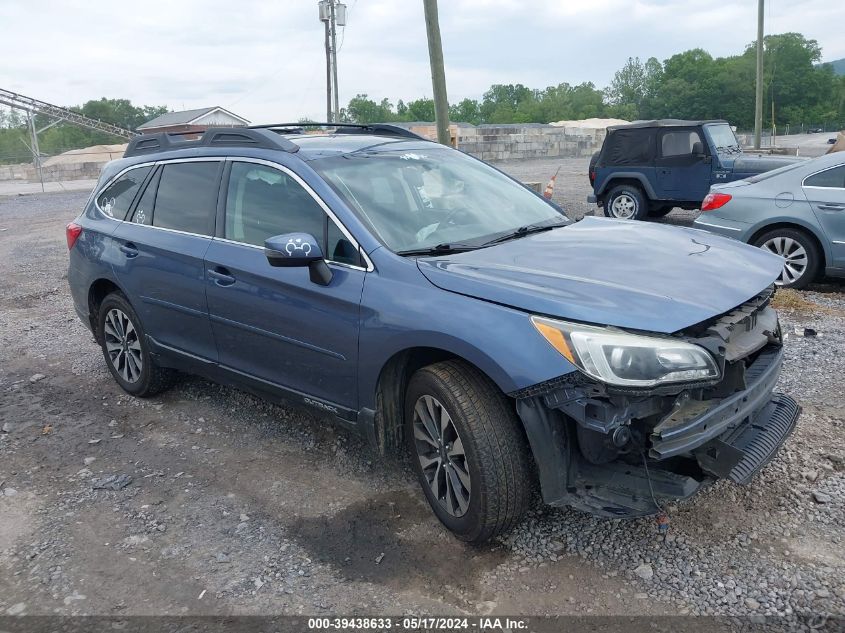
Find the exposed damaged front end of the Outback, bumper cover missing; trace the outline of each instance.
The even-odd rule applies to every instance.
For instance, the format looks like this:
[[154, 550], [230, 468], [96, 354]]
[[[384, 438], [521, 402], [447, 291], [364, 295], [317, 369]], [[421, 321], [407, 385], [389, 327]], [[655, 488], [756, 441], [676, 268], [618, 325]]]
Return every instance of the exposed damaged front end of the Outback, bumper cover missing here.
[[716, 478], [748, 483], [800, 415], [774, 393], [783, 348], [773, 294], [676, 333], [713, 356], [718, 378], [643, 388], [573, 372], [511, 394], [546, 503], [633, 517]]

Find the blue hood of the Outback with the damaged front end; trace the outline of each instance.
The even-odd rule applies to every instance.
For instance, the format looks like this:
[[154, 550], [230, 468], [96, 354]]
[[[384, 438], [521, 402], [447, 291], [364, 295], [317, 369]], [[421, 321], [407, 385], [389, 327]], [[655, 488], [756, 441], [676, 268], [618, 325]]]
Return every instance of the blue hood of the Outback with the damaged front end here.
[[697, 229], [584, 218], [489, 248], [419, 258], [417, 266], [451, 292], [563, 319], [670, 333], [761, 292], [780, 274], [782, 260]]

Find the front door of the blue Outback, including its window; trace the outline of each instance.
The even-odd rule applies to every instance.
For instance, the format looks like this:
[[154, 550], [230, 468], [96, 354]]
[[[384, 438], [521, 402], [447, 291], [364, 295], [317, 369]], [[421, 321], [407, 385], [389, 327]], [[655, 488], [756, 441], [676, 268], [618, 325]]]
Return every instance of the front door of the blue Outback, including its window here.
[[[205, 256], [221, 367], [345, 417], [357, 410], [366, 275], [357, 245], [285, 168], [234, 161], [224, 180], [225, 219]], [[307, 268], [268, 263], [264, 240], [295, 232], [310, 233], [323, 245], [333, 273], [327, 286], [311, 281]]]

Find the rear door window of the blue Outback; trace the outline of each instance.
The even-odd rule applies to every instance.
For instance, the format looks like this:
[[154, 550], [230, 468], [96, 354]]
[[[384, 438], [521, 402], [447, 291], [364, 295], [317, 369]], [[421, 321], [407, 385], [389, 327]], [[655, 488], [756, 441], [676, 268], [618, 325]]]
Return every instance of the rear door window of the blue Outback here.
[[[155, 196], [153, 226], [211, 235], [219, 172], [219, 161], [165, 164]], [[138, 213], [135, 218], [140, 219]]]

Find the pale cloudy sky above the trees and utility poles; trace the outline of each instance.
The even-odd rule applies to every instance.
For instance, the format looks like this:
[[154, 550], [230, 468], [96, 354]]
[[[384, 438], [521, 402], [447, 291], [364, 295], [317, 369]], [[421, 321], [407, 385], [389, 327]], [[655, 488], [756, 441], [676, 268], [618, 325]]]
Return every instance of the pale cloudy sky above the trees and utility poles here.
[[[340, 103], [431, 96], [422, 0], [346, 0]], [[741, 52], [756, 0], [440, 0], [450, 102], [494, 83], [606, 86], [628, 57]], [[845, 2], [767, 0], [766, 33], [845, 57]], [[59, 105], [100, 97], [222, 106], [253, 123], [324, 120], [317, 0], [0, 0], [0, 88]]]

